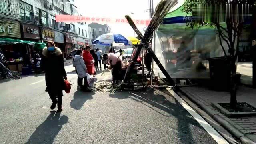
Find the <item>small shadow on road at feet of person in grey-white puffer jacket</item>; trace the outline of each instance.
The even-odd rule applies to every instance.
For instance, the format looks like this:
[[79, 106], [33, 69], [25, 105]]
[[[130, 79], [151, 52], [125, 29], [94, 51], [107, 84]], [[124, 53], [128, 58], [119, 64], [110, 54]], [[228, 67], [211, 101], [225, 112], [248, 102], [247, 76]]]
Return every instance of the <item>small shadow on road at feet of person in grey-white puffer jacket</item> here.
[[95, 92], [82, 92], [80, 90], [74, 93], [73, 100], [70, 102], [70, 107], [76, 110], [80, 110], [87, 100], [93, 99]]

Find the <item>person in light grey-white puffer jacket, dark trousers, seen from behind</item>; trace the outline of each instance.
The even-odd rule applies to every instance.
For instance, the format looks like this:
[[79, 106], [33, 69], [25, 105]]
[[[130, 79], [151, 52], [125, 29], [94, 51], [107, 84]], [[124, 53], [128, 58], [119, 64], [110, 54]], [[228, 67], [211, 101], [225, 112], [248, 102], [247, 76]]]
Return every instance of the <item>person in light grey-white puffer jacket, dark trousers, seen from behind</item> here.
[[[77, 50], [76, 55], [73, 58], [73, 66], [76, 67], [76, 73], [78, 75], [77, 84], [78, 88], [84, 88], [87, 90], [88, 83], [86, 78], [87, 68], [84, 64], [84, 60], [82, 57], [82, 50]], [[82, 86], [82, 82], [84, 80], [84, 86]]]

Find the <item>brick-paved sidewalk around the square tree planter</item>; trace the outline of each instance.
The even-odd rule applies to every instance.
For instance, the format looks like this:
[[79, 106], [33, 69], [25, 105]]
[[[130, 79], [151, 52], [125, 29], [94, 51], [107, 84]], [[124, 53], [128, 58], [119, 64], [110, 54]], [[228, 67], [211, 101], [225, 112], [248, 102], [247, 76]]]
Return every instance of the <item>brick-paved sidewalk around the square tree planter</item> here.
[[[212, 107], [212, 103], [230, 102], [229, 92], [214, 91], [202, 86], [182, 87], [180, 89], [187, 95], [193, 96], [198, 101], [203, 102], [206, 106], [215, 111], [217, 110]], [[244, 85], [239, 86], [237, 91], [237, 101], [247, 102], [248, 104], [256, 107], [256, 89], [252, 89]], [[238, 130], [248, 136], [248, 138], [256, 142], [256, 116], [228, 118], [220, 112], [218, 113], [220, 116], [222, 116], [222, 118], [227, 120], [230, 124], [234, 125]]]

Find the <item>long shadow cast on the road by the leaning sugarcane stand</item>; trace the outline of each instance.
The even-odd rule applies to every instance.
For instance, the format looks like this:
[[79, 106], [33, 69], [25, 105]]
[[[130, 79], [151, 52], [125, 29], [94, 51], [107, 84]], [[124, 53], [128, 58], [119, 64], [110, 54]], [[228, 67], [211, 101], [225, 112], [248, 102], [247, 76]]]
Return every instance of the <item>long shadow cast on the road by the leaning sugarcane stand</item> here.
[[[181, 104], [176, 99], [164, 95], [166, 94], [160, 91], [148, 90], [146, 92], [129, 92], [122, 94], [118, 92], [116, 94], [110, 94], [109, 96], [118, 99], [131, 98], [132, 100], [140, 102], [148, 108], [151, 108], [157, 113], [160, 113], [162, 116], [175, 117], [178, 121], [178, 137], [181, 138], [180, 141], [183, 144], [198, 143], [198, 140], [195, 139], [195, 135], [197, 134], [193, 134], [195, 132], [193, 128], [204, 131], [202, 126], [200, 126], [200, 124], [196, 122], [196, 120], [181, 106]], [[148, 104], [150, 104], [151, 106], [149, 106]], [[156, 110], [155, 108], [167, 112], [168, 115]], [[198, 135], [200, 135], [200, 133], [198, 133]], [[209, 144], [210, 143], [215, 142], [209, 142]]]

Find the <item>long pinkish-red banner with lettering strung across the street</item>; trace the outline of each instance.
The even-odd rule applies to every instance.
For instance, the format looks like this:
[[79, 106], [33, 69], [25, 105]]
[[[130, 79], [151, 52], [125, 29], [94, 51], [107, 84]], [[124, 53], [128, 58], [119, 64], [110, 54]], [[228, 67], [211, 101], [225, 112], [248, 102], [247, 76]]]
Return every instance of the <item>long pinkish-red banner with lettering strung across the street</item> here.
[[[133, 20], [136, 25], [148, 26], [150, 20]], [[97, 23], [116, 23], [125, 24], [127, 20], [120, 18], [100, 18], [100, 17], [87, 17], [87, 16], [69, 16], [69, 15], [56, 15], [56, 22], [97, 22]]]

